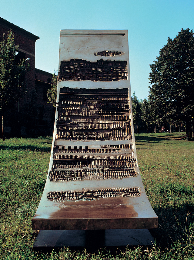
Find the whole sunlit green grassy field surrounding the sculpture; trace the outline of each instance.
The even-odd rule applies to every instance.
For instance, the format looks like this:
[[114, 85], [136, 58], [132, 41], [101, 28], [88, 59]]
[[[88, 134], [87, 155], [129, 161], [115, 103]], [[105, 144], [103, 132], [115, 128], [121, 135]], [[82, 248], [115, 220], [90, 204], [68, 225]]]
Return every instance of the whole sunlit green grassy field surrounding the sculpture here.
[[38, 231], [31, 218], [49, 166], [51, 138], [0, 141], [0, 259], [188, 259], [194, 260], [194, 142], [184, 133], [135, 136], [137, 158], [149, 201], [159, 217], [152, 247], [96, 254], [62, 249], [35, 253]]

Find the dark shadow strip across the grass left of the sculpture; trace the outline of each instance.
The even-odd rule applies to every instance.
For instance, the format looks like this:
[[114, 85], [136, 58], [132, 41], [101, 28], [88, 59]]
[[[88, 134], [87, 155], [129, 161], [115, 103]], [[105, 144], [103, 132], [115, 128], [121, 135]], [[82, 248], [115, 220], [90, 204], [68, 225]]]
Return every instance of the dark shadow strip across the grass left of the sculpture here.
[[[48, 143], [50, 144], [50, 143]], [[35, 145], [1, 145], [1, 150], [28, 150], [28, 151], [40, 151], [40, 152], [51, 152], [51, 144], [50, 147], [37, 147]]]

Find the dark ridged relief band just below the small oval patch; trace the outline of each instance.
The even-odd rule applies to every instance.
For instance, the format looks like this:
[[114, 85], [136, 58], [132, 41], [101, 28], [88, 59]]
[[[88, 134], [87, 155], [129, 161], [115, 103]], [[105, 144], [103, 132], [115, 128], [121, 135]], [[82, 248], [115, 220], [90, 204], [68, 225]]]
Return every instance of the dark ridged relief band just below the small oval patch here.
[[127, 79], [126, 61], [89, 62], [82, 59], [71, 59], [61, 62], [59, 80], [92, 80], [118, 81]]

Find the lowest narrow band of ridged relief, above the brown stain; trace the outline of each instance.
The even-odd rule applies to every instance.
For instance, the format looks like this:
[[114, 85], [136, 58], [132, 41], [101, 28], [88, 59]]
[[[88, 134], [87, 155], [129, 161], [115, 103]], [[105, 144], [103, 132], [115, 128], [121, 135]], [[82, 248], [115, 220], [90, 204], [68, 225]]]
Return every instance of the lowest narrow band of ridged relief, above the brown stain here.
[[141, 195], [138, 187], [134, 188], [110, 188], [82, 191], [48, 192], [47, 198], [52, 202], [84, 201], [109, 197], [139, 197]]

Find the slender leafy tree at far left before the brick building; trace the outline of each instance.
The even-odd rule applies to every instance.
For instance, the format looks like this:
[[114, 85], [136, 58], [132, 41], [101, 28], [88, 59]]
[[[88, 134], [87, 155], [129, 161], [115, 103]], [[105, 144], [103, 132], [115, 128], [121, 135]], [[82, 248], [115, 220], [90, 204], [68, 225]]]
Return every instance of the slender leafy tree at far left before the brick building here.
[[14, 34], [12, 30], [8, 31], [7, 41], [5, 34], [3, 41], [0, 42], [0, 114], [2, 116], [2, 135], [3, 140], [3, 116], [7, 109], [12, 109], [15, 102], [21, 97], [21, 88], [24, 82], [19, 78], [23, 78], [24, 73], [29, 66], [25, 66], [25, 60], [21, 60], [19, 64], [15, 61], [15, 53], [19, 45], [14, 43]]

